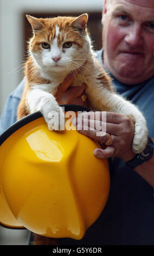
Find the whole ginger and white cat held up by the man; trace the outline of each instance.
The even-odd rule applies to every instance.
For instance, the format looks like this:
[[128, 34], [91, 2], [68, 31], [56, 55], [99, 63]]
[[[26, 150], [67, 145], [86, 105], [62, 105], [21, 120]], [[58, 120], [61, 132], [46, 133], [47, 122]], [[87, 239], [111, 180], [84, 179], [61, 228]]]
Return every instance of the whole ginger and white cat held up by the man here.
[[[132, 148], [139, 153], [147, 142], [146, 121], [129, 101], [113, 92], [110, 77], [100, 66], [92, 50], [86, 23], [87, 14], [79, 17], [56, 17], [36, 19], [27, 15], [33, 28], [29, 42], [29, 57], [25, 63], [26, 83], [18, 107], [18, 119], [29, 113], [41, 111], [50, 130], [59, 129], [62, 108], [54, 95], [67, 75], [80, 69], [71, 86], [86, 83], [89, 108], [97, 111], [117, 112], [135, 123]], [[53, 126], [53, 114], [57, 116]]]

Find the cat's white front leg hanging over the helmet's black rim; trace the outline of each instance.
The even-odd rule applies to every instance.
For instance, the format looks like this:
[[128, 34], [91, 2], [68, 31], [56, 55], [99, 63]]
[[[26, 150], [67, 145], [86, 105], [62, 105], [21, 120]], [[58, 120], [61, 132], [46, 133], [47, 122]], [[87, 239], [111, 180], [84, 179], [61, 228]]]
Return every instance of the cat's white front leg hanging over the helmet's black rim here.
[[27, 105], [30, 113], [43, 114], [49, 130], [64, 130], [65, 114], [52, 94], [34, 87], [27, 94]]

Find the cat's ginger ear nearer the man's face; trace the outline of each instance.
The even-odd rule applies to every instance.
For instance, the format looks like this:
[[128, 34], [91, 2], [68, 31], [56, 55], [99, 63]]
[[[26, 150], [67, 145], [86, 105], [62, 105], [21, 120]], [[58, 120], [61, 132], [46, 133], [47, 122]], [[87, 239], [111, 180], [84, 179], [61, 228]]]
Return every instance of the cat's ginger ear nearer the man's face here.
[[77, 17], [71, 25], [74, 29], [78, 29], [78, 31], [84, 32], [86, 29], [87, 20], [88, 15], [85, 13]]

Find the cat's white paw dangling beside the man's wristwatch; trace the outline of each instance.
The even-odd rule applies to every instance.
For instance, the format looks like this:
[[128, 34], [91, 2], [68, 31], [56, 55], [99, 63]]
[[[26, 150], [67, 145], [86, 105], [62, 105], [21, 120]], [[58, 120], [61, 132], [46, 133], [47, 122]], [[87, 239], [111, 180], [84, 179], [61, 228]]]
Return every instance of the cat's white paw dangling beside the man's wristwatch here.
[[135, 125], [134, 138], [132, 143], [132, 149], [134, 153], [140, 153], [145, 149], [147, 143], [147, 127], [143, 125]]

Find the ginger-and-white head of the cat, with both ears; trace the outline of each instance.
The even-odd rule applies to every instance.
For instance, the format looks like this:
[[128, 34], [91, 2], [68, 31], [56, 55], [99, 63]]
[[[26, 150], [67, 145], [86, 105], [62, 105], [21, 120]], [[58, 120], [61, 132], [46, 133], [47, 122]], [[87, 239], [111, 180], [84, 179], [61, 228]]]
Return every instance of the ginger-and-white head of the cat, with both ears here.
[[91, 47], [86, 31], [86, 14], [78, 18], [27, 17], [34, 31], [30, 40], [30, 54], [40, 68], [54, 72], [70, 72], [86, 62]]

